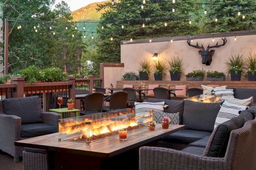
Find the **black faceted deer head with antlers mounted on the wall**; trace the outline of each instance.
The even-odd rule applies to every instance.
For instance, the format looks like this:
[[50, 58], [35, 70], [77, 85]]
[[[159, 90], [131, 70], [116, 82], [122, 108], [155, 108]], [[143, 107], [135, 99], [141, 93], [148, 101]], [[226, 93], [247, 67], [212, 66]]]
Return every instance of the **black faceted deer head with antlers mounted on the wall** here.
[[222, 38], [223, 40], [223, 44], [221, 45], [218, 45], [218, 42], [216, 45], [213, 45], [213, 46], [210, 46], [208, 45], [207, 46], [207, 49], [205, 50], [204, 49], [204, 46], [201, 45], [201, 47], [198, 45], [198, 43], [196, 43], [196, 45], [192, 45], [191, 44], [191, 40], [188, 40], [188, 44], [189, 46], [191, 47], [195, 47], [195, 48], [201, 48], [201, 50], [198, 51], [198, 53], [202, 56], [202, 63], [205, 64], [205, 65], [211, 65], [211, 62], [212, 62], [212, 55], [214, 54], [215, 50], [210, 50], [210, 48], [217, 48], [217, 47], [221, 47], [221, 46], [224, 46], [226, 43], [227, 43], [227, 39], [226, 38]]

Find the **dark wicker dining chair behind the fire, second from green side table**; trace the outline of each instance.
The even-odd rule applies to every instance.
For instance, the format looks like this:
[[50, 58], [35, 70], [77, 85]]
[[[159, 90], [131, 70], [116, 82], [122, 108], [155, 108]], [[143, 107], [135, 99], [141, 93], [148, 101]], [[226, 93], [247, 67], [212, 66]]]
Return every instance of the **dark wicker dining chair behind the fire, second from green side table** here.
[[109, 100], [109, 108], [103, 109], [103, 111], [114, 111], [120, 109], [126, 109], [128, 93], [125, 91], [117, 91], [110, 96], [108, 96], [105, 100]]

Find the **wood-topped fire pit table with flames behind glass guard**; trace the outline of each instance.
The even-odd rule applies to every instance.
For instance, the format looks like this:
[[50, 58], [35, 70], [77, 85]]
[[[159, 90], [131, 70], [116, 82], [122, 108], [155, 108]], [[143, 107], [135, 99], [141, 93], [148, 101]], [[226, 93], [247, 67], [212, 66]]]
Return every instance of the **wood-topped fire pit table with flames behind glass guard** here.
[[[170, 125], [146, 129], [152, 112], [134, 109], [110, 111], [59, 120], [59, 133], [16, 141], [16, 146], [47, 150], [49, 169], [102, 170], [136, 168], [138, 148], [184, 128]], [[128, 129], [127, 140], [119, 140], [118, 130]], [[124, 166], [124, 167], [120, 167]], [[138, 169], [138, 167], [136, 168]]]

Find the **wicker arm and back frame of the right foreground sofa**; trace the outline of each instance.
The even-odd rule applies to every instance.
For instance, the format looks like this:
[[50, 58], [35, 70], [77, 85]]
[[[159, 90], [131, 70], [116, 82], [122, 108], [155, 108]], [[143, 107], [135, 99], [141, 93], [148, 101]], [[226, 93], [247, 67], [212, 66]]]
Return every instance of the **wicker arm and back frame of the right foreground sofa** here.
[[256, 119], [231, 131], [224, 158], [197, 156], [163, 147], [140, 148], [140, 170], [255, 170]]

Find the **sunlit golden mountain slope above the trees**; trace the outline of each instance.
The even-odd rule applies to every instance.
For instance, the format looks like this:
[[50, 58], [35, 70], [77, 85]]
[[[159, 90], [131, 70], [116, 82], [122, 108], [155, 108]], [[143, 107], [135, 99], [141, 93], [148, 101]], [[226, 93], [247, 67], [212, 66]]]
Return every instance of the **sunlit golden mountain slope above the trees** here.
[[104, 4], [106, 2], [108, 2], [108, 0], [98, 2], [98, 3], [91, 3], [91, 4], [84, 6], [76, 11], [73, 11], [71, 13], [71, 16], [73, 17], [73, 21], [99, 20], [99, 18], [101, 17], [101, 14], [106, 9], [103, 9], [103, 10], [97, 12], [97, 10], [96, 10], [96, 8], [98, 8], [97, 4]]

